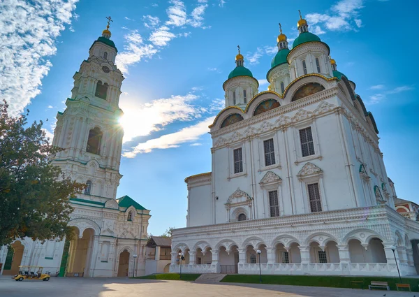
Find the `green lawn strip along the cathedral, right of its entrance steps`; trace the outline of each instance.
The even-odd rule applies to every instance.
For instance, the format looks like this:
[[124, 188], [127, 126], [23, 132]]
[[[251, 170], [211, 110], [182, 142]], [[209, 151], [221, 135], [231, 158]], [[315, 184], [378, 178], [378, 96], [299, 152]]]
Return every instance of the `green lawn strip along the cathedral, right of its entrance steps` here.
[[[364, 289], [368, 289], [371, 282], [388, 282], [390, 289], [396, 290], [400, 283], [398, 277], [344, 277], [325, 275], [262, 275], [263, 284], [291, 284], [293, 286], [332, 287], [332, 288], [361, 288], [361, 284], [352, 284], [351, 281], [364, 282]], [[226, 275], [221, 282], [240, 282], [258, 284], [259, 275]], [[412, 291], [419, 291], [418, 278], [402, 277], [404, 284], [410, 284]]]

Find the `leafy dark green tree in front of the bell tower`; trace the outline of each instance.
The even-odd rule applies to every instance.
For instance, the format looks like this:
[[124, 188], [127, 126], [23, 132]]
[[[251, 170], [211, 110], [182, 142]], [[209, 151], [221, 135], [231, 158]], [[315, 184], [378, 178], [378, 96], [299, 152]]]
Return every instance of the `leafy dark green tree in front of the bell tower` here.
[[62, 239], [73, 211], [68, 198], [84, 185], [66, 178], [48, 158], [59, 148], [48, 142], [43, 122], [8, 114], [0, 104], [0, 247], [15, 238]]

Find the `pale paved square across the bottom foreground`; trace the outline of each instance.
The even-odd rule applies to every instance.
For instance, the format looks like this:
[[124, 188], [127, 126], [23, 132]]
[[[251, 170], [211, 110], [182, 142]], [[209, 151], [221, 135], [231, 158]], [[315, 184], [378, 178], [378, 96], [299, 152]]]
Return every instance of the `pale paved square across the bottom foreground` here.
[[369, 291], [294, 287], [270, 284], [196, 284], [182, 281], [131, 280], [126, 278], [63, 278], [52, 277], [49, 282], [24, 280], [15, 282], [0, 277], [1, 297], [364, 297], [364, 296], [419, 296], [417, 293], [397, 291]]

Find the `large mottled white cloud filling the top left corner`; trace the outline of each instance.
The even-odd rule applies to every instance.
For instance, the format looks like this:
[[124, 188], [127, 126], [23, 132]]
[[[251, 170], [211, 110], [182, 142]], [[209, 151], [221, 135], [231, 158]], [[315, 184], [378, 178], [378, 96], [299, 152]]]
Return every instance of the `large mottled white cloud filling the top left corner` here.
[[56, 39], [78, 0], [0, 1], [0, 97], [15, 115], [41, 93]]

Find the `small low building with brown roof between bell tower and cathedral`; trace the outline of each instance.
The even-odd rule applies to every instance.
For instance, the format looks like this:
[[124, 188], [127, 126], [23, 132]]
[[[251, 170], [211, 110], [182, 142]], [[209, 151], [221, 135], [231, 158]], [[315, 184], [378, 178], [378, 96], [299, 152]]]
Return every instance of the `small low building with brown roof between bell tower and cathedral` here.
[[149, 238], [145, 249], [145, 275], [168, 273], [172, 240], [161, 236]]

